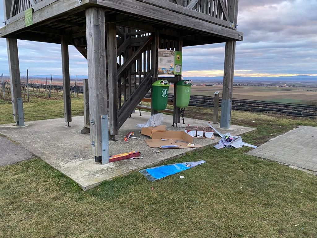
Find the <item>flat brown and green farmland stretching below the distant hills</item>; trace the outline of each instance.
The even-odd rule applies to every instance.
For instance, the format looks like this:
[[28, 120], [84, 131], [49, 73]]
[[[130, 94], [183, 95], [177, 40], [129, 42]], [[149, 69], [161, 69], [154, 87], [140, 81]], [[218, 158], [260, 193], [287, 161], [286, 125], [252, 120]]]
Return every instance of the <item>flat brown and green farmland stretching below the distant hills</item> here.
[[[314, 90], [314, 91], [307, 91]], [[191, 95], [214, 96], [216, 91], [220, 92], [222, 97], [222, 86], [193, 86]], [[170, 93], [174, 92], [174, 88], [170, 87]], [[301, 87], [301, 88], [277, 88], [277, 87], [256, 87], [256, 86], [234, 86], [233, 98], [268, 101], [268, 102], [284, 102], [296, 104], [317, 104], [317, 87]]]

